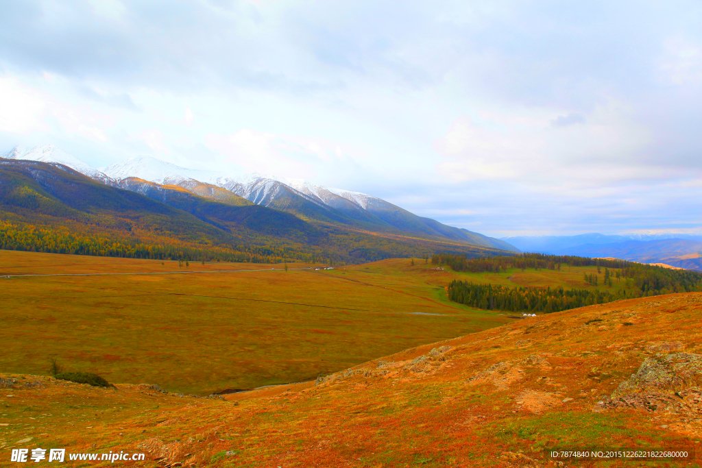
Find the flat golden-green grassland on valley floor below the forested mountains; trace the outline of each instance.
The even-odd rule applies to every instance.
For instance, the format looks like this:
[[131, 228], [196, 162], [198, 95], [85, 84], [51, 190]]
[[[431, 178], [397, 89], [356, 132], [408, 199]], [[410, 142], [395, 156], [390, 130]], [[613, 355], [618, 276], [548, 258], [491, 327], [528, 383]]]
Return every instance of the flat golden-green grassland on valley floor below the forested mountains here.
[[10, 276], [0, 278], [0, 369], [46, 375], [53, 357], [110, 382], [209, 394], [310, 380], [510, 321], [448, 302], [443, 286], [463, 275], [430, 267], [286, 272], [0, 250]]

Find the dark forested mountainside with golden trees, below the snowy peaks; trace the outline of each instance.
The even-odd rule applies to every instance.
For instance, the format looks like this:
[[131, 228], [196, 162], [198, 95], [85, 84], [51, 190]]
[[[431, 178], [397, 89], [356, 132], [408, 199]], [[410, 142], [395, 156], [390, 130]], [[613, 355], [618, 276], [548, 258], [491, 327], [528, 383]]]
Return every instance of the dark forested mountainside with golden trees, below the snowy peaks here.
[[334, 225], [241, 201], [206, 199], [180, 187], [140, 183], [131, 192], [66, 166], [0, 161], [0, 248], [133, 258], [246, 262], [357, 263], [392, 257], [494, 248]]

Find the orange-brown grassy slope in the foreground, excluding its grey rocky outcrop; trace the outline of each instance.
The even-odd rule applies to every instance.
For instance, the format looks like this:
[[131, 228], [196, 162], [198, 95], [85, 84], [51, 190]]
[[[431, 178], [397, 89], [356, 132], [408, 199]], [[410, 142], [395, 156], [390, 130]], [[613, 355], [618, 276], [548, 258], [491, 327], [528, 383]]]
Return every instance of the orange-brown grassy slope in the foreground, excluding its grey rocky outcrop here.
[[[586, 323], [592, 319], [600, 321]], [[228, 401], [44, 377], [44, 387], [0, 397], [8, 424], [0, 426], [0, 453], [9, 457], [13, 446], [147, 451], [151, 460], [165, 457], [161, 466], [198, 467], [542, 467], [550, 466], [544, 448], [694, 447], [702, 435], [694, 417], [602, 410], [597, 401], [666, 346], [701, 353], [701, 325], [700, 293], [625, 300], [408, 349], [383, 358], [383, 367], [364, 363], [316, 387]], [[444, 359], [412, 363], [438, 345], [451, 347]], [[503, 373], [486, 372], [496, 363]], [[15, 377], [19, 385], [37, 380]], [[17, 442], [27, 437], [34, 439]]]

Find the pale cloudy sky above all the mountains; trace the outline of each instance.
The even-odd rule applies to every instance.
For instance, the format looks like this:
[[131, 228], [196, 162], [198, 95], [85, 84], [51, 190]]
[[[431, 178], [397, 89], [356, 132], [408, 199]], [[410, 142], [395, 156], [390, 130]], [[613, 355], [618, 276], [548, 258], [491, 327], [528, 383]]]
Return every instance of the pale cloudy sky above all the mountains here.
[[365, 192], [491, 236], [702, 233], [699, 1], [4, 1], [0, 152]]

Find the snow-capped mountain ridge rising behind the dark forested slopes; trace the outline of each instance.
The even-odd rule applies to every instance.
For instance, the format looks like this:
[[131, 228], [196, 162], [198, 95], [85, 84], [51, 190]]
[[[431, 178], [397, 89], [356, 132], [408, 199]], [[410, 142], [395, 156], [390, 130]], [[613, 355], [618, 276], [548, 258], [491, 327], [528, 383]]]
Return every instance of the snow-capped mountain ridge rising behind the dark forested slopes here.
[[[176, 166], [150, 156], [126, 159], [98, 171], [53, 145], [29, 151], [15, 148], [4, 157], [65, 164], [90, 178], [124, 189], [140, 187], [138, 183], [125, 182], [128, 178], [138, 178], [159, 185], [178, 185], [193, 193], [196, 193], [194, 188], [197, 187], [199, 194], [211, 192], [219, 187], [258, 205], [286, 211], [303, 220], [316, 220], [369, 232], [430, 236], [479, 246], [517, 250], [505, 241], [446, 226], [430, 218], [422, 218], [376, 196], [315, 185], [300, 179], [259, 173], [201, 171]], [[209, 189], [204, 186], [209, 186]]]

